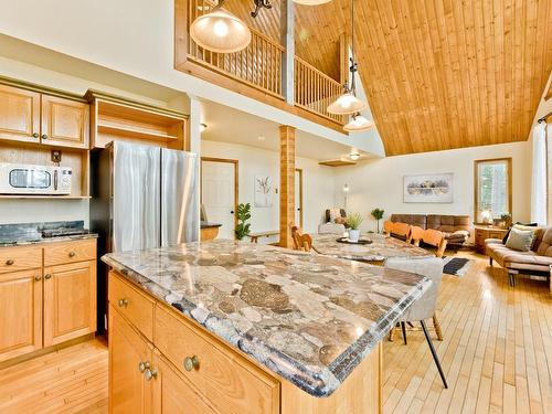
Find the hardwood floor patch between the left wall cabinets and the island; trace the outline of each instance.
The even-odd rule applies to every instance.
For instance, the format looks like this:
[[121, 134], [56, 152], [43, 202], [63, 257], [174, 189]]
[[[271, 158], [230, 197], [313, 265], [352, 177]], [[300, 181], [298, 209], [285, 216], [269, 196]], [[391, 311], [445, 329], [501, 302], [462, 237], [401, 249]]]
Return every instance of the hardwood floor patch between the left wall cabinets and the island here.
[[107, 413], [107, 344], [94, 339], [0, 370], [0, 413]]

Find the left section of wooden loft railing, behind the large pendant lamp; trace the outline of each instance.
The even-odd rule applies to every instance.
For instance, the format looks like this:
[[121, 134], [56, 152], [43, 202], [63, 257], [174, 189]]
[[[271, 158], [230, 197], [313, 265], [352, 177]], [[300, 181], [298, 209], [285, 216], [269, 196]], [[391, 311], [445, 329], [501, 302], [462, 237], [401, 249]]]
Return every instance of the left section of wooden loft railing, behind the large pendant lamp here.
[[[209, 12], [213, 3], [208, 0], [189, 1], [188, 26], [197, 17]], [[236, 53], [216, 53], [204, 50], [189, 38], [189, 59], [213, 71], [223, 73], [246, 85], [283, 98], [282, 61], [285, 49], [263, 33], [251, 29], [252, 41]]]

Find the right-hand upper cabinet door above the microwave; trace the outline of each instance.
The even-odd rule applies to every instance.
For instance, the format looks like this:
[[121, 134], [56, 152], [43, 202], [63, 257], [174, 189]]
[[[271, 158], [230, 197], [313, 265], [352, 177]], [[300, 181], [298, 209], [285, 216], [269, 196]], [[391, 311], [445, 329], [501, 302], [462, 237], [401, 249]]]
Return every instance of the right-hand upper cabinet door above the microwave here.
[[42, 95], [41, 142], [88, 148], [89, 106], [86, 103]]

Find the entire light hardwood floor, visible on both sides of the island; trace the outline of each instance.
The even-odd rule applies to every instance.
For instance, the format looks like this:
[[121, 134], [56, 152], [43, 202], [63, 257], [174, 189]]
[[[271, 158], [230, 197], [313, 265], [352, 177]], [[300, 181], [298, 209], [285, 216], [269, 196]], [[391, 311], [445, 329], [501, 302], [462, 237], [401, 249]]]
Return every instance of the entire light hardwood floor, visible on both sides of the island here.
[[[445, 275], [432, 332], [444, 390], [421, 331], [384, 340], [384, 413], [552, 413], [552, 295], [475, 259]], [[428, 322], [431, 325], [431, 321]], [[107, 347], [92, 340], [0, 370], [0, 413], [107, 413]]]

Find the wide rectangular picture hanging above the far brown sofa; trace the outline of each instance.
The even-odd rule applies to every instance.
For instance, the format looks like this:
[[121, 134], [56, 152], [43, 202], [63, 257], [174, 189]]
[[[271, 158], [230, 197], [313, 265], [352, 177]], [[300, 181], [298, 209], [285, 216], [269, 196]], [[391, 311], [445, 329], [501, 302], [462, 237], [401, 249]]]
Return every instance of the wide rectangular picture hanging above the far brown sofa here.
[[453, 173], [404, 176], [405, 203], [452, 203]]

